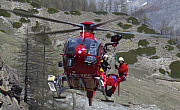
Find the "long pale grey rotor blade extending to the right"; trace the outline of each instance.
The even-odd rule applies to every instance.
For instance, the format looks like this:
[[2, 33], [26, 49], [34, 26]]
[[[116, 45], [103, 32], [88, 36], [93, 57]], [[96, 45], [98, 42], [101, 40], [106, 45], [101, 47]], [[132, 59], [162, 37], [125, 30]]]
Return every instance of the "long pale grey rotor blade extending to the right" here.
[[143, 36], [156, 36], [156, 37], [172, 37], [174, 35], [161, 35], [161, 34], [146, 34], [146, 33], [139, 33], [139, 32], [127, 32], [127, 31], [116, 31], [104, 28], [96, 28], [97, 31], [110, 31], [115, 33], [123, 33], [123, 34], [136, 34], [136, 35], [143, 35]]

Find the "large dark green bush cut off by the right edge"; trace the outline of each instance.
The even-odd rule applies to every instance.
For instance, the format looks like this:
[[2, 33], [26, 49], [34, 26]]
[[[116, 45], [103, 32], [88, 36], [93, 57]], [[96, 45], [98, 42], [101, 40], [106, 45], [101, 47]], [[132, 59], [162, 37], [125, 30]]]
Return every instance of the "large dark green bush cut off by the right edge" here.
[[170, 77], [180, 78], [180, 60], [172, 62], [169, 68], [171, 69]]

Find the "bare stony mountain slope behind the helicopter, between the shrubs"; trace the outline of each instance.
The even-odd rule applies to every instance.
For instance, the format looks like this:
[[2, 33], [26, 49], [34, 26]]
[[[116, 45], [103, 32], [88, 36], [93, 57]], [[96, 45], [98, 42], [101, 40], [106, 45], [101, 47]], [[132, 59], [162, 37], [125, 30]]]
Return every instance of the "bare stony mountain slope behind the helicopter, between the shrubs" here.
[[[4, 1], [0, 0], [1, 8], [22, 8], [25, 10], [32, 9], [33, 7], [27, 3], [19, 3], [19, 2], [10, 2], [10, 1]], [[117, 23], [122, 22], [123, 24], [129, 24], [125, 19], [127, 19], [129, 16], [117, 16], [112, 13], [108, 13], [108, 15], [97, 15], [93, 12], [81, 12], [82, 15], [67, 15], [64, 14], [64, 12], [60, 11], [56, 14], [49, 14], [47, 12], [47, 9], [41, 8], [38, 9], [40, 13], [38, 15], [40, 16], [46, 16], [53, 19], [59, 19], [59, 20], [65, 20], [69, 22], [75, 22], [75, 23], [81, 23], [83, 21], [93, 21], [94, 19], [101, 19], [102, 22], [108, 21], [109, 19], [114, 19], [117, 17], [120, 17], [120, 21], [116, 21], [113, 23], [106, 24], [102, 26], [103, 28], [107, 29], [114, 29], [114, 30], [123, 30], [120, 28]], [[36, 24], [35, 21], [39, 21], [40, 24], [46, 24], [48, 27], [51, 28], [51, 30], [61, 30], [61, 29], [68, 29], [72, 26], [64, 25], [64, 24], [57, 24], [57, 23], [51, 23], [43, 20], [38, 20], [31, 18], [31, 23], [23, 23], [23, 26], [19, 29], [12, 28], [12, 22], [19, 21], [21, 17], [16, 16], [15, 14], [11, 14], [10, 18], [4, 18], [2, 17], [0, 20], [0, 23], [3, 25], [3, 28], [7, 33], [0, 32], [0, 44], [1, 44], [1, 52], [2, 52], [2, 59], [4, 62], [13, 67], [14, 64], [14, 58], [16, 58], [15, 51], [18, 51], [18, 43], [17, 40], [18, 37], [23, 37], [26, 33], [27, 28], [31, 28]], [[98, 22], [97, 22], [98, 23]], [[141, 26], [139, 25], [133, 25], [131, 28], [127, 29], [126, 31], [133, 31], [137, 32], [137, 28]], [[110, 42], [110, 39], [104, 37], [110, 32], [96, 32], [96, 37], [102, 41], [103, 44]], [[110, 33], [111, 35], [114, 35], [114, 33]], [[56, 49], [62, 50], [62, 46], [64, 41], [69, 37], [78, 36], [79, 32], [74, 33], [67, 33], [67, 34], [58, 34], [50, 36], [53, 46]], [[126, 36], [123, 36], [126, 38]], [[94, 99], [94, 105], [92, 107], [87, 107], [87, 100], [82, 95], [77, 95], [77, 107], [81, 109], [107, 109], [107, 108], [113, 108], [113, 109], [173, 109], [173, 110], [179, 110], [179, 103], [180, 103], [180, 84], [178, 80], [173, 81], [168, 74], [166, 73], [161, 74], [158, 70], [159, 68], [164, 69], [165, 71], [170, 72], [171, 69], [169, 68], [169, 65], [173, 61], [180, 60], [179, 57], [176, 56], [177, 53], [179, 53], [179, 49], [176, 47], [176, 45], [171, 45], [174, 47], [172, 51], [168, 51], [165, 49], [166, 45], [168, 44], [167, 38], [154, 38], [154, 37], [148, 37], [148, 36], [140, 36], [135, 35], [132, 39], [122, 39], [120, 41], [120, 44], [117, 47], [117, 52], [128, 52], [129, 50], [138, 49], [140, 46], [138, 46], [139, 40], [146, 39], [149, 44], [148, 46], [155, 47], [156, 53], [154, 55], [159, 56], [158, 59], [150, 59], [150, 57], [154, 56], [146, 56], [141, 55], [138, 56], [138, 61], [135, 64], [129, 65], [129, 76], [127, 78], [127, 81], [123, 82], [120, 87], [120, 96], [117, 96], [117, 91], [113, 95], [115, 97], [115, 103], [110, 102], [101, 102], [99, 103], [99, 99], [103, 97], [102, 93], [96, 94], [96, 98]], [[110, 48], [111, 49], [111, 48]], [[110, 60], [113, 56], [113, 51], [110, 51], [108, 54], [110, 55]], [[114, 61], [111, 61], [111, 65], [114, 65]], [[114, 72], [114, 69], [109, 71], [109, 73]], [[4, 73], [3, 73], [4, 74]], [[7, 75], [7, 74], [6, 74]], [[9, 77], [7, 75], [7, 77]], [[165, 80], [162, 80], [165, 79]], [[169, 81], [167, 81], [169, 80]], [[66, 100], [60, 101], [56, 100], [55, 104], [58, 107], [58, 105], [64, 104], [64, 106], [70, 106], [72, 108], [72, 96], [71, 93], [65, 93], [68, 97]], [[8, 99], [8, 98], [7, 98]], [[6, 100], [7, 100], [6, 99]], [[11, 101], [9, 102], [11, 103]], [[4, 103], [5, 104], [5, 103]], [[16, 104], [17, 105], [17, 104]], [[122, 106], [124, 105], [124, 106]], [[8, 106], [8, 105], [7, 105]], [[127, 107], [125, 107], [127, 106]], [[19, 108], [17, 108], [19, 109]]]

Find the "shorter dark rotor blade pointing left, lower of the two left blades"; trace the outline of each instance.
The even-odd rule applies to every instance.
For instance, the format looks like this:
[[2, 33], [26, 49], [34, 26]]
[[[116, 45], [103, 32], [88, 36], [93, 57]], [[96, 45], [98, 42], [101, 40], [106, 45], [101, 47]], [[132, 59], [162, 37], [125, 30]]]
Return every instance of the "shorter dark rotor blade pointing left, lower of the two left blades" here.
[[74, 32], [78, 30], [82, 30], [82, 28], [74, 28], [74, 29], [69, 29], [69, 30], [60, 30], [60, 31], [52, 31], [52, 32], [45, 32], [45, 33], [41, 32], [41, 33], [35, 33], [31, 35], [60, 34], [60, 33]]

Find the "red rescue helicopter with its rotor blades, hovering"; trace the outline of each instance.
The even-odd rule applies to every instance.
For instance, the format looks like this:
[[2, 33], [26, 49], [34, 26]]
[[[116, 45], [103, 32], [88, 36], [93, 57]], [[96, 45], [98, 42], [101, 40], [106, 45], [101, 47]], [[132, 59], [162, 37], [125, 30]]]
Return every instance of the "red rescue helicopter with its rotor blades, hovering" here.
[[[99, 28], [99, 26], [120, 20], [120, 18], [109, 20], [107, 22], [103, 22], [100, 24], [95, 24], [89, 21], [78, 24], [37, 16], [18, 10], [0, 10], [5, 10], [16, 14], [25, 15], [28, 17], [34, 17], [51, 22], [69, 24], [78, 27], [69, 30], [46, 32], [43, 34], [68, 33], [78, 30], [83, 31], [80, 33], [80, 36], [69, 38], [65, 42], [63, 54], [61, 54], [63, 57], [63, 62], [59, 62], [59, 67], [63, 66], [64, 68], [64, 74], [58, 77], [54, 75], [48, 75], [48, 85], [51, 91], [57, 92], [58, 96], [60, 96], [60, 94], [65, 89], [85, 90], [87, 91], [87, 97], [89, 99], [90, 106], [92, 106], [92, 98], [94, 94], [93, 91], [101, 91], [106, 96], [106, 90], [103, 81], [100, 78], [100, 60], [102, 59], [103, 55], [107, 52], [107, 46], [112, 45], [115, 48], [117, 44], [119, 44], [118, 42], [120, 41], [120, 39], [122, 38], [120, 34], [114, 35], [111, 37], [111, 43], [107, 43], [105, 44], [105, 46], [103, 46], [101, 41], [94, 37], [94, 31], [110, 31], [115, 33], [169, 37], [169, 35], [143, 34], [138, 32], [125, 32]], [[36, 35], [38, 34], [42, 33], [37, 33]], [[64, 86], [65, 81], [68, 82], [67, 87]]]

